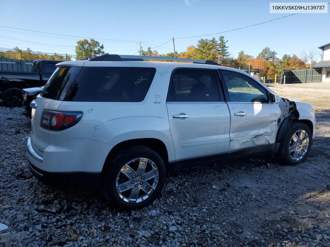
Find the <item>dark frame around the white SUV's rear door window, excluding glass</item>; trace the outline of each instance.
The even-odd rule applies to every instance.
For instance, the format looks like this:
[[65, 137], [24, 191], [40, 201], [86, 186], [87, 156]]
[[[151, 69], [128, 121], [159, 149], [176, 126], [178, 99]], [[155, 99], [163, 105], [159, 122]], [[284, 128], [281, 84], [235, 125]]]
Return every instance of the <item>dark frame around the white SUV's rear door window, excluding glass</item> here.
[[[216, 87], [217, 87], [217, 91], [218, 91], [218, 95], [219, 95], [219, 101], [167, 101], [167, 98], [168, 98], [169, 93], [170, 93], [170, 88], [171, 88], [171, 85], [172, 85], [172, 82], [173, 82], [173, 74], [177, 69], [212, 70], [213, 73], [214, 73], [214, 76], [215, 76], [215, 80], [216, 80]], [[219, 74], [218, 74], [217, 69], [178, 67], [178, 68], [175, 68], [175, 69], [172, 70], [165, 103], [219, 103], [219, 102], [226, 102], [225, 101], [225, 96], [223, 95], [223, 92], [219, 90], [219, 86], [221, 86], [221, 84], [220, 84]]]

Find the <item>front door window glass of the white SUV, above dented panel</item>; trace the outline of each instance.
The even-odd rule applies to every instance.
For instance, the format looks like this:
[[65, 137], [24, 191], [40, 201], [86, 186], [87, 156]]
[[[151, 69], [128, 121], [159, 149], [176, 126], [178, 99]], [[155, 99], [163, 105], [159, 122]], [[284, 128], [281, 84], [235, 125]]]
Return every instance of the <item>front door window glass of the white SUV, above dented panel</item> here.
[[268, 102], [266, 90], [240, 73], [221, 71], [232, 102]]

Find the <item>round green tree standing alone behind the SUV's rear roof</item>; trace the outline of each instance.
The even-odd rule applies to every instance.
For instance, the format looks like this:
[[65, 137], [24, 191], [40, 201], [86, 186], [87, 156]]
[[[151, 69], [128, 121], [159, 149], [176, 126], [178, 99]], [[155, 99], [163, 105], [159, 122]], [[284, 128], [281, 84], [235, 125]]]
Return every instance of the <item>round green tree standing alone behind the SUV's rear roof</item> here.
[[104, 55], [104, 46], [103, 44], [100, 44], [99, 41], [96, 41], [94, 39], [90, 39], [89, 41], [87, 39], [77, 41], [76, 45], [76, 60], [82, 60], [84, 58], [87, 58], [87, 55], [82, 48], [82, 45], [85, 46], [86, 51], [88, 52], [88, 55], [92, 57], [92, 54], [95, 56], [98, 55]]

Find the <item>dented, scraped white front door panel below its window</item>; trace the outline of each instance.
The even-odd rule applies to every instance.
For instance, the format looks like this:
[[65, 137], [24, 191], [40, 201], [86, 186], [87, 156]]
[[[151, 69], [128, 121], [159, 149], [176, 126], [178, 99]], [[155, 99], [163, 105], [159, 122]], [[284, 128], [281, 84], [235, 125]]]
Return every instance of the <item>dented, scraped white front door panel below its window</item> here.
[[278, 104], [228, 102], [228, 106], [231, 116], [228, 152], [275, 143], [281, 115]]

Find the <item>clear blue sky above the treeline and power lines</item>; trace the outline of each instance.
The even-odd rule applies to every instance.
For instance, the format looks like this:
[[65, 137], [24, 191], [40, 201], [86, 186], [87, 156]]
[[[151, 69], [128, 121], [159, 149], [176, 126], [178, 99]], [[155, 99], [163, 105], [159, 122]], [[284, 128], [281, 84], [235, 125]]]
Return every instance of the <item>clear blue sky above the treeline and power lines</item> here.
[[[291, 1], [289, 1], [291, 2]], [[310, 1], [313, 2], [313, 1]], [[317, 1], [318, 2], [318, 1]], [[283, 54], [300, 54], [330, 42], [330, 14], [296, 14], [280, 20], [237, 31], [199, 38], [178, 39], [227, 31], [275, 19], [287, 14], [270, 14], [269, 1], [215, 0], [69, 0], [0, 1], [1, 26], [54, 34], [92, 37], [104, 44], [110, 54], [133, 54], [143, 41], [143, 49], [175, 38], [178, 52], [201, 38], [225, 36], [229, 52], [256, 56], [264, 47]], [[0, 27], [0, 47], [75, 54], [79, 38], [57, 36]], [[11, 30], [16, 32], [4, 31]], [[23, 32], [23, 33], [17, 33]], [[30, 33], [30, 34], [25, 34]], [[45, 36], [32, 35], [39, 34]], [[62, 38], [54, 38], [62, 37]], [[125, 40], [109, 42], [102, 39]], [[17, 40], [20, 39], [20, 40]], [[38, 42], [36, 44], [31, 42]], [[56, 46], [55, 46], [56, 45]], [[169, 41], [156, 48], [159, 53], [173, 51]], [[319, 49], [317, 49], [319, 50]]]

